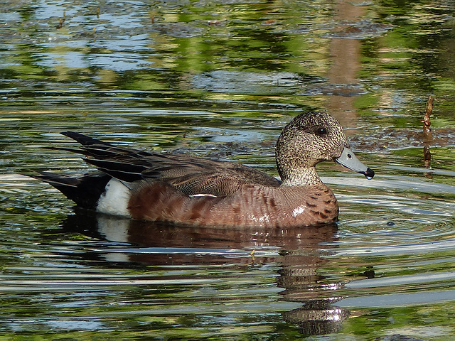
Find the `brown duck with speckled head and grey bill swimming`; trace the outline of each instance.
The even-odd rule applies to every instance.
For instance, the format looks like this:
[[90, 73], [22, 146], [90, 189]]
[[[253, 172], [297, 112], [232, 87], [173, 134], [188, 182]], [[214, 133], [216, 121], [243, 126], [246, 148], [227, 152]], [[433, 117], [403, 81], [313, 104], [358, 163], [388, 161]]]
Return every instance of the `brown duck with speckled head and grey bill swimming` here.
[[31, 176], [76, 207], [132, 220], [203, 227], [331, 224], [338, 220], [338, 202], [316, 165], [336, 161], [368, 179], [375, 175], [327, 112], [305, 112], [284, 126], [275, 148], [279, 179], [240, 163], [114, 146], [74, 131], [60, 134], [80, 148], [48, 148], [82, 154], [97, 173]]

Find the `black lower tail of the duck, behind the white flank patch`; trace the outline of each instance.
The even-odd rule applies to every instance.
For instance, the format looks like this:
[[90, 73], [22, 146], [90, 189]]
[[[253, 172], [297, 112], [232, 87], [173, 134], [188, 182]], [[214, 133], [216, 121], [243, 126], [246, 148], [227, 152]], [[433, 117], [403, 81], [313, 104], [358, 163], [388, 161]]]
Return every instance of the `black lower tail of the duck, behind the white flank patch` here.
[[105, 191], [105, 187], [112, 177], [104, 173], [61, 175], [48, 172], [38, 172], [29, 175], [32, 178], [43, 180], [60, 190], [68, 199], [73, 200], [78, 207], [95, 210], [98, 199]]

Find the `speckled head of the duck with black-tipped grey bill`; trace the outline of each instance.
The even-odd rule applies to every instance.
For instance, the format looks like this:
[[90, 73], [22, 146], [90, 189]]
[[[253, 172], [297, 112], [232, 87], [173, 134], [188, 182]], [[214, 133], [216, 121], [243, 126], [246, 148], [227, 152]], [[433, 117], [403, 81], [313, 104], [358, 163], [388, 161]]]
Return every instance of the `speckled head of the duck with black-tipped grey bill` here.
[[279, 136], [276, 153], [283, 183], [304, 185], [319, 181], [315, 166], [321, 161], [336, 161], [368, 179], [375, 175], [350, 150], [341, 124], [326, 112], [294, 117]]

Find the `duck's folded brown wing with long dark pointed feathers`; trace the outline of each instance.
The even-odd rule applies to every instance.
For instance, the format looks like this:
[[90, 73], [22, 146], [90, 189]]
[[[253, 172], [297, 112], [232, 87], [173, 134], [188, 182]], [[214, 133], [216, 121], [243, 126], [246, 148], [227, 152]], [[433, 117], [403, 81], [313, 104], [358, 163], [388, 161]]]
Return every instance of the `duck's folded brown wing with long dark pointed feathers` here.
[[186, 195], [217, 197], [231, 195], [245, 185], [280, 185], [276, 178], [237, 163], [123, 148], [72, 131], [62, 134], [82, 144], [80, 149], [64, 150], [85, 154], [87, 163], [128, 183], [163, 181]]

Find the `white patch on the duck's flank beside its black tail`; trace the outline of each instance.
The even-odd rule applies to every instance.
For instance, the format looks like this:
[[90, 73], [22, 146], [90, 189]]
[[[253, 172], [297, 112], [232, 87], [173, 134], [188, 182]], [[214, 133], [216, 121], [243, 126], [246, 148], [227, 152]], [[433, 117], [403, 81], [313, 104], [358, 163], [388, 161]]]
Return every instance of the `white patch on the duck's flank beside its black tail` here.
[[127, 185], [112, 178], [107, 183], [105, 192], [98, 199], [97, 211], [107, 215], [131, 217], [128, 211], [130, 195]]

